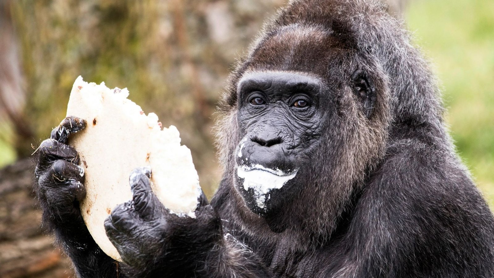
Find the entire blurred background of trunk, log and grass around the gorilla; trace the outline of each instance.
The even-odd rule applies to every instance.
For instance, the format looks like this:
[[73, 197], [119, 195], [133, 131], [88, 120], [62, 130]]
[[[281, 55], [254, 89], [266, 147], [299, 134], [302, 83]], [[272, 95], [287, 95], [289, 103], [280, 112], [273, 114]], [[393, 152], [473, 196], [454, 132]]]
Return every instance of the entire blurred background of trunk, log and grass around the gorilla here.
[[[73, 277], [42, 234], [31, 154], [74, 80], [127, 87], [178, 127], [211, 196], [212, 126], [236, 57], [284, 0], [0, 0], [0, 277]], [[494, 207], [494, 1], [390, 0], [443, 86], [458, 153]]]

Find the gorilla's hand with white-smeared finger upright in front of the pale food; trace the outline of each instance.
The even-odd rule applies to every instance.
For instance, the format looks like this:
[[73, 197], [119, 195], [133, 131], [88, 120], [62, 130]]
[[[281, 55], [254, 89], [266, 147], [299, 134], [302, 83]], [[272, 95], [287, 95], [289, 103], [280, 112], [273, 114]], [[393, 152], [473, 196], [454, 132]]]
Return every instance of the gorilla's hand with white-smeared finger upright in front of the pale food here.
[[132, 200], [112, 210], [105, 220], [106, 234], [123, 262], [133, 269], [163, 275], [197, 271], [221, 240], [218, 215], [204, 194], [196, 218], [169, 213], [152, 192], [150, 176], [146, 167], [132, 171]]

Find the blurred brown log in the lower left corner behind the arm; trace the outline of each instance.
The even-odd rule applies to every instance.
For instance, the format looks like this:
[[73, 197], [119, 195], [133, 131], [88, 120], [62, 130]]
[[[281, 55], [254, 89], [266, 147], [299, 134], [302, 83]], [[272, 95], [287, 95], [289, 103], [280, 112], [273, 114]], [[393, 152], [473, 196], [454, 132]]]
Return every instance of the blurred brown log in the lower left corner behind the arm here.
[[74, 277], [69, 259], [41, 229], [33, 168], [23, 159], [0, 170], [0, 277]]

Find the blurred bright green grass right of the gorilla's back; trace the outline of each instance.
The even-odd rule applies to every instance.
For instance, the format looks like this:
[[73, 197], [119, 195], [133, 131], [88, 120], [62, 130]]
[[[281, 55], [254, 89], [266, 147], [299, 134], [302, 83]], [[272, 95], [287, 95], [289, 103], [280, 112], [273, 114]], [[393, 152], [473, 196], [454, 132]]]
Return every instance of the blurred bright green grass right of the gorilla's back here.
[[494, 1], [414, 0], [405, 17], [443, 85], [458, 153], [494, 208]]

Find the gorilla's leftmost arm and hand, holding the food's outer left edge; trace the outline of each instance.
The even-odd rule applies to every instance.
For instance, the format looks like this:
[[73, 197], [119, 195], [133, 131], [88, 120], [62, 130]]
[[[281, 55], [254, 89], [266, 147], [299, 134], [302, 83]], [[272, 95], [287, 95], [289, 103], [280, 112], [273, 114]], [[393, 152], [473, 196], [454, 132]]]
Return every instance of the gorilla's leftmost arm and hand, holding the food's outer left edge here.
[[79, 201], [85, 195], [84, 174], [78, 167], [77, 151], [66, 144], [71, 133], [84, 127], [85, 121], [68, 117], [51, 132], [50, 139], [41, 143], [35, 189], [43, 225], [55, 234], [78, 277], [113, 278], [117, 277], [118, 266], [94, 242], [82, 220]]

